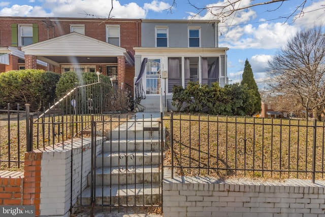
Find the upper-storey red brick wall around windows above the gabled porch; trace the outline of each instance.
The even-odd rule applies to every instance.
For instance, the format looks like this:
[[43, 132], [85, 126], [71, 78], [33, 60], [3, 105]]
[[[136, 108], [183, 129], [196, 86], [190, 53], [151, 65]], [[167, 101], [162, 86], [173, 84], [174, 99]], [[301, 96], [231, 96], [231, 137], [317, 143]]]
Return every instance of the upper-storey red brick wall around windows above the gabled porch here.
[[11, 46], [11, 24], [38, 24], [39, 42], [70, 33], [70, 24], [84, 24], [85, 35], [106, 42], [106, 25], [119, 25], [121, 47], [134, 54], [141, 46], [140, 19], [0, 17], [0, 46]]

